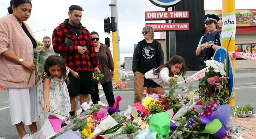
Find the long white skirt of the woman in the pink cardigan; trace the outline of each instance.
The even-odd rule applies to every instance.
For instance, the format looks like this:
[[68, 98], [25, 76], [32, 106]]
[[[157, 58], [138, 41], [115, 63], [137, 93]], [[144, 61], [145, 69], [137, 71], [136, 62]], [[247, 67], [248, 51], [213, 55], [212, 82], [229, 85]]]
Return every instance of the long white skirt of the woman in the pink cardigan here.
[[36, 86], [31, 88], [6, 88], [12, 125], [20, 122], [30, 125], [38, 121]]

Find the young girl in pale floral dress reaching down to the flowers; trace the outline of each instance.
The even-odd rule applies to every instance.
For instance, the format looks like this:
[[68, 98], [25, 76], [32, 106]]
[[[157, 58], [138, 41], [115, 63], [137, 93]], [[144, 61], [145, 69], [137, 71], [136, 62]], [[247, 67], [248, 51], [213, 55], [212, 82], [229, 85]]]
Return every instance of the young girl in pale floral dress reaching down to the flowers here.
[[[62, 115], [69, 116], [70, 99], [67, 89], [69, 79], [68, 72], [72, 73], [76, 78], [78, 74], [67, 68], [62, 57], [52, 55], [45, 61], [44, 71], [41, 74], [41, 80], [36, 85], [37, 91], [37, 109], [39, 115], [39, 124], [43, 125], [50, 114], [59, 118]], [[50, 111], [50, 112], [48, 112]]]

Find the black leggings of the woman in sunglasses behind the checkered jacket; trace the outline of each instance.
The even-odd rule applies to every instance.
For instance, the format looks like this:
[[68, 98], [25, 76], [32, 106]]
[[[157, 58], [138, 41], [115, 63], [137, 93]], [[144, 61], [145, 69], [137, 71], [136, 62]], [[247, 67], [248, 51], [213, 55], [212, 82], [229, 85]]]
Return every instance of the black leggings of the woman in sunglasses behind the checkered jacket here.
[[[101, 83], [101, 86], [103, 88], [103, 91], [105, 93], [107, 102], [110, 107], [112, 107], [115, 103], [115, 97], [113, 94], [113, 88], [112, 88], [112, 81]], [[99, 84], [94, 84], [95, 87], [95, 93], [91, 94], [91, 99], [93, 104], [97, 104], [99, 101]]]

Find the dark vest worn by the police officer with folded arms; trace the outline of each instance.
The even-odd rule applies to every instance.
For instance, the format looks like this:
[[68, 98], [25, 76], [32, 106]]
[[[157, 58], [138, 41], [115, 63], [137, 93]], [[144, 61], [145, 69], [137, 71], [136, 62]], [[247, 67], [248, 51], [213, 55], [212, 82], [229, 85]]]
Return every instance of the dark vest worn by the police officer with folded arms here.
[[[217, 30], [211, 34], [206, 33], [204, 34], [204, 37], [202, 38], [202, 44], [208, 43], [208, 44], [215, 44], [220, 46], [220, 33], [221, 31]], [[215, 50], [213, 48], [205, 48], [201, 54], [200, 58], [203, 59], [204, 61], [211, 59], [215, 53]]]

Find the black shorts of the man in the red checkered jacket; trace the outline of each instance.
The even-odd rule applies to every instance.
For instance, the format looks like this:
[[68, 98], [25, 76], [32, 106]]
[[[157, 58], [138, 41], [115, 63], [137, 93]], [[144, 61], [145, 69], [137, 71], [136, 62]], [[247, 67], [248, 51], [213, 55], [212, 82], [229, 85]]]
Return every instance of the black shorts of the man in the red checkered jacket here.
[[70, 72], [68, 73], [69, 84], [67, 89], [70, 97], [76, 97], [78, 94], [94, 93], [94, 83], [92, 81], [91, 71], [76, 71], [79, 75], [75, 78]]

